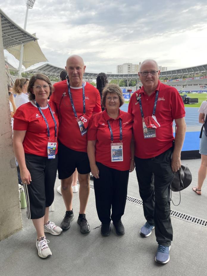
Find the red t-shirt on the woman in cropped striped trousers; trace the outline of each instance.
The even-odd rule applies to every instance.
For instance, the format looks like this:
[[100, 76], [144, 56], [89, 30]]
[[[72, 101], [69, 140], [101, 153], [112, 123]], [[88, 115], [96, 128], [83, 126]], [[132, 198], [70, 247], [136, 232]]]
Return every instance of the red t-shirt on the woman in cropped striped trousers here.
[[[58, 134], [58, 117], [56, 106], [48, 103], [52, 109], [53, 115], [57, 122]], [[48, 106], [41, 108], [45, 115], [50, 128], [50, 141], [55, 139], [55, 123], [51, 116]], [[37, 106], [32, 102], [21, 105], [14, 114], [14, 130], [26, 130], [23, 140], [23, 148], [25, 153], [35, 154], [47, 157], [48, 133], [47, 126], [43, 116], [40, 114]], [[57, 154], [57, 148], [56, 148]]]

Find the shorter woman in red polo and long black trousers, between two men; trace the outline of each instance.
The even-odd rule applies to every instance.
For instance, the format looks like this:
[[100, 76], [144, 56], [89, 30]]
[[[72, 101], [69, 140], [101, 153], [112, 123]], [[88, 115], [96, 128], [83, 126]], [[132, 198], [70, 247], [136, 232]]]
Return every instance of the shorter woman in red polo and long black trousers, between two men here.
[[91, 117], [88, 128], [87, 153], [103, 236], [109, 236], [111, 219], [118, 235], [125, 232], [121, 217], [126, 205], [129, 172], [134, 170], [134, 142], [133, 118], [119, 109], [123, 104], [120, 87], [108, 84], [102, 98], [105, 110]]

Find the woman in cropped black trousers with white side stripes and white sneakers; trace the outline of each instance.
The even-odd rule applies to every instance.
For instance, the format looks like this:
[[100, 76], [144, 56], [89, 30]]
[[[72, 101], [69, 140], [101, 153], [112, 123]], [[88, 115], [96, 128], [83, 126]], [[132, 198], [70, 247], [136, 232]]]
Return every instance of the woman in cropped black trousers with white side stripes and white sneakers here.
[[32, 219], [37, 231], [36, 247], [41, 258], [52, 255], [45, 233], [62, 232], [49, 220], [57, 173], [59, 126], [56, 107], [48, 102], [52, 91], [48, 77], [33, 75], [28, 85], [30, 101], [14, 115], [14, 153], [26, 194], [27, 218]]

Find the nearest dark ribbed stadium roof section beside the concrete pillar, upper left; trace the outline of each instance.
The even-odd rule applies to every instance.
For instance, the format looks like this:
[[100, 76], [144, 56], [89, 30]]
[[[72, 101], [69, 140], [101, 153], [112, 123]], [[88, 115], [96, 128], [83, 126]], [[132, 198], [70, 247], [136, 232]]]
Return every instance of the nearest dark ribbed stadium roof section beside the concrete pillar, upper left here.
[[1, 29], [4, 49], [35, 41], [38, 38], [26, 32], [12, 21], [1, 9]]

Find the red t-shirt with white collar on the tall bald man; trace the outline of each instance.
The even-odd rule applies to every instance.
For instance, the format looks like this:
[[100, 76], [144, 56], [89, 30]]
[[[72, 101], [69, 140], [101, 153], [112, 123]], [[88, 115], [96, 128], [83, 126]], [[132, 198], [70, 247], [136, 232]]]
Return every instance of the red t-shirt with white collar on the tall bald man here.
[[[68, 95], [67, 80], [54, 84], [50, 101], [56, 104], [59, 118], [59, 141], [66, 147], [87, 152], [87, 134], [81, 136], [79, 125], [73, 113], [70, 98]], [[77, 116], [83, 115], [83, 89], [82, 87], [70, 87], [73, 103]], [[65, 95], [63, 96], [63, 93]], [[92, 114], [101, 112], [101, 97], [98, 90], [90, 83], [85, 84], [85, 105], [86, 115], [91, 117]]]

